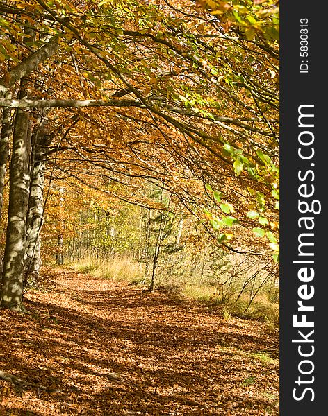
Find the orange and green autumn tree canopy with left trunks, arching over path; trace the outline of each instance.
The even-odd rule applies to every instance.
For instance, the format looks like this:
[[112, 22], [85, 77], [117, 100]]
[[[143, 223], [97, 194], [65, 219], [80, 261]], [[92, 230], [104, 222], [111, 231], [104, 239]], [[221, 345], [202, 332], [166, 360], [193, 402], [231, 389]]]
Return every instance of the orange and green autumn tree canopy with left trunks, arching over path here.
[[224, 250], [278, 260], [279, 3], [7, 0], [0, 27], [3, 288], [35, 255], [51, 180], [183, 209]]

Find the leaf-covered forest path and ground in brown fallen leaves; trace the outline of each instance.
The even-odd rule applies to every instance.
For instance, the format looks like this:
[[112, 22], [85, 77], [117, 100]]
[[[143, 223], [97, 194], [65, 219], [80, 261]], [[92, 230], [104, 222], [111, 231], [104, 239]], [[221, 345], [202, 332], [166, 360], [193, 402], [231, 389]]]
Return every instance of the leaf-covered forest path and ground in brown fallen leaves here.
[[279, 415], [279, 333], [218, 306], [55, 269], [0, 311], [1, 416]]

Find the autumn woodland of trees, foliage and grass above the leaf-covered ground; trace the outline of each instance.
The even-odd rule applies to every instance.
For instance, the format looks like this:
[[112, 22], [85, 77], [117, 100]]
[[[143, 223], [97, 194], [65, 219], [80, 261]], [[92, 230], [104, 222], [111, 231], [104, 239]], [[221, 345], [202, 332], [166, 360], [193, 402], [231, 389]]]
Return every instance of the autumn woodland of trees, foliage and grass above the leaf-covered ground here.
[[56, 263], [277, 327], [279, 2], [7, 0], [0, 28], [1, 308]]

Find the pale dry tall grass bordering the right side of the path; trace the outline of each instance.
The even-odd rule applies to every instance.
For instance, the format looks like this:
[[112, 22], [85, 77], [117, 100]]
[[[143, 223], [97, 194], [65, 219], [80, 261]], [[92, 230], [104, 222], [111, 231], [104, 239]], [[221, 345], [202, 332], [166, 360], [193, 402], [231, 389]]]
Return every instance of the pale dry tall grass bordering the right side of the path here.
[[[183, 272], [183, 265], [177, 268], [166, 268], [164, 263], [158, 267], [154, 289], [165, 291], [174, 297], [206, 302], [212, 306], [222, 306], [224, 319], [231, 316], [252, 318], [279, 325], [279, 287], [274, 279], [259, 268], [243, 268], [243, 272], [236, 272], [236, 265], [226, 268], [221, 273], [208, 268], [207, 274], [202, 269], [202, 275]], [[245, 264], [244, 264], [245, 266]], [[85, 256], [73, 266], [79, 272], [90, 273], [95, 277], [126, 281], [128, 284], [149, 287], [150, 278], [145, 278], [145, 264], [129, 257], [110, 256], [97, 259]], [[190, 272], [190, 268], [187, 268]], [[211, 274], [212, 271], [212, 274]]]

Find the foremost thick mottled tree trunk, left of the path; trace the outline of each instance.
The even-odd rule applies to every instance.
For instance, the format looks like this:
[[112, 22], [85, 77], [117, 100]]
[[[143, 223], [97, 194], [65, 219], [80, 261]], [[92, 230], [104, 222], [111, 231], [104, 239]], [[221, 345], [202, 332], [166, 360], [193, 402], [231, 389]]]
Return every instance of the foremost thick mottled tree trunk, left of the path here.
[[28, 125], [28, 112], [17, 110], [10, 164], [8, 225], [0, 297], [1, 307], [13, 311], [24, 311], [24, 243], [29, 193], [28, 165], [31, 153], [31, 132]]

